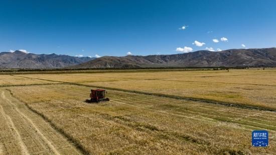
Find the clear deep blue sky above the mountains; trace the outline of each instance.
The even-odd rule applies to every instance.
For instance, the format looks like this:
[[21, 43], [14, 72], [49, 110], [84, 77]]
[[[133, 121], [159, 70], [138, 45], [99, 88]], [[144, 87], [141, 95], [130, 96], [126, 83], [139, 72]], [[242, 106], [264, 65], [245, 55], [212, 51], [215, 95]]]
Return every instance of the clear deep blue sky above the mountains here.
[[276, 47], [273, 0], [0, 1], [0, 51], [94, 57]]

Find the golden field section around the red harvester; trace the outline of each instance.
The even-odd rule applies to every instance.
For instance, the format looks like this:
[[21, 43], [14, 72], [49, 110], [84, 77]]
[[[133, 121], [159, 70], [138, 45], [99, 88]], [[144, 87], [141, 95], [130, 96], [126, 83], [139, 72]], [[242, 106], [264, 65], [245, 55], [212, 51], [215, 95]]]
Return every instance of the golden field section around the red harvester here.
[[[276, 135], [274, 112], [113, 90], [107, 90], [111, 101], [87, 104], [83, 100], [89, 87], [38, 87], [11, 87], [11, 91], [89, 153], [272, 153], [276, 149], [274, 138], [267, 148], [250, 145], [253, 129], [265, 128]], [[64, 99], [51, 91], [62, 92]], [[26, 93], [31, 95], [25, 97]], [[38, 94], [44, 95], [33, 102]]]

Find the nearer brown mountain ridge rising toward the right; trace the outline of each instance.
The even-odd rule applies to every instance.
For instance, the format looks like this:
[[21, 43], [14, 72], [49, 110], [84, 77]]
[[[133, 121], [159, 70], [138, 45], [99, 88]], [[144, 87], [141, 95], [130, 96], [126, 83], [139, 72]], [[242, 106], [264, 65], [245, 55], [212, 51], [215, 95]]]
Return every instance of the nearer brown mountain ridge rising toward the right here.
[[173, 55], [105, 56], [70, 68], [276, 66], [276, 48], [196, 51]]

